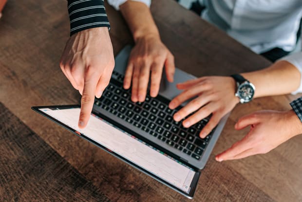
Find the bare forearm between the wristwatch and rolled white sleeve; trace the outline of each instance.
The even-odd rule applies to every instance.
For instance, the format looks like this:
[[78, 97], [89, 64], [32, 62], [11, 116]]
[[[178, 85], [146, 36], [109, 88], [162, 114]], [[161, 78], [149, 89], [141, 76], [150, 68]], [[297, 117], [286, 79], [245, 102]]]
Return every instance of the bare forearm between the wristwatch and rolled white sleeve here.
[[255, 85], [254, 97], [287, 94], [300, 86], [300, 71], [287, 61], [278, 61], [263, 70], [242, 73]]

